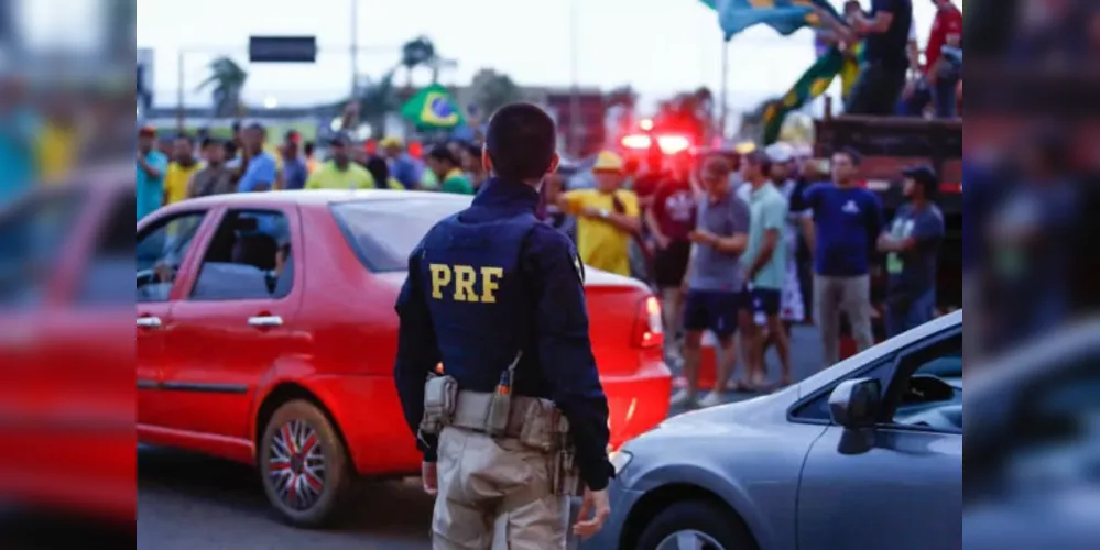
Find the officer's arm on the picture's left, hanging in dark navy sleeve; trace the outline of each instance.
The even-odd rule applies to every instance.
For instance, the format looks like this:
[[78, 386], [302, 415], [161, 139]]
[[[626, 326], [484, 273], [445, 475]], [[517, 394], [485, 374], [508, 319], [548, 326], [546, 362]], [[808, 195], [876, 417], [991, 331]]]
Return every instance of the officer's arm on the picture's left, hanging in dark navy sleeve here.
[[[424, 383], [439, 363], [435, 327], [421, 285], [421, 250], [417, 246], [409, 258], [409, 278], [401, 288], [395, 306], [401, 326], [397, 329], [397, 359], [393, 365], [393, 380], [397, 386], [401, 408], [405, 413], [405, 421], [413, 433], [420, 431], [424, 416]], [[424, 453], [425, 462], [435, 462], [436, 438], [417, 438], [416, 446]]]

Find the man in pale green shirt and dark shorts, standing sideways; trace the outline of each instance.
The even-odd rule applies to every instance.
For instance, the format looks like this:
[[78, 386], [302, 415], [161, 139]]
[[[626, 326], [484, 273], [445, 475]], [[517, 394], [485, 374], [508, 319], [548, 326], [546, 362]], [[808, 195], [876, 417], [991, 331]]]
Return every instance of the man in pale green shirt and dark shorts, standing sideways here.
[[758, 315], [763, 315], [782, 363], [781, 384], [786, 386], [791, 384], [791, 341], [780, 320], [780, 304], [787, 278], [786, 249], [783, 245], [787, 201], [769, 178], [771, 165], [762, 151], [745, 155], [742, 162], [744, 180], [751, 189], [749, 211], [752, 218], [749, 224], [749, 245], [741, 255], [750, 297], [741, 326], [753, 384], [759, 386], [764, 380], [765, 339], [755, 321]]

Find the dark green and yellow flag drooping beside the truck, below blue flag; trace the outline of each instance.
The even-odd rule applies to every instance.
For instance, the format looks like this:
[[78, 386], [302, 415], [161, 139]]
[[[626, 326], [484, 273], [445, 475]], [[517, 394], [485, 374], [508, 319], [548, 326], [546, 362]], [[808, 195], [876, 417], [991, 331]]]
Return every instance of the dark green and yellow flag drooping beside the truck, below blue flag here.
[[769, 105], [764, 109], [762, 120], [764, 144], [775, 143], [775, 140], [780, 138], [780, 130], [783, 129], [783, 121], [787, 114], [825, 94], [825, 90], [829, 89], [832, 80], [838, 76], [842, 82], [842, 94], [847, 98], [852, 85], [856, 84], [854, 77], [859, 74], [859, 59], [862, 56], [862, 45], [849, 51], [842, 51], [837, 46], [830, 47], [825, 55], [803, 73], [798, 81], [782, 99]]

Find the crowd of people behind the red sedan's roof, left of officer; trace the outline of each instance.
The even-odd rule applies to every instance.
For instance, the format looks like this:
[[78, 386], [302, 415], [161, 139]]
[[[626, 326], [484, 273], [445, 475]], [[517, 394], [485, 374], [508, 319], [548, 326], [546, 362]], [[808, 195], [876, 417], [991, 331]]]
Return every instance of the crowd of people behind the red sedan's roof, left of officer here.
[[229, 140], [209, 135], [159, 136], [138, 131], [138, 219], [188, 198], [229, 193], [295, 189], [421, 189], [472, 195], [487, 176], [477, 145], [448, 143], [417, 158], [397, 138], [377, 146], [345, 134], [328, 139], [325, 158], [301, 133], [272, 146], [259, 123], [235, 125]]

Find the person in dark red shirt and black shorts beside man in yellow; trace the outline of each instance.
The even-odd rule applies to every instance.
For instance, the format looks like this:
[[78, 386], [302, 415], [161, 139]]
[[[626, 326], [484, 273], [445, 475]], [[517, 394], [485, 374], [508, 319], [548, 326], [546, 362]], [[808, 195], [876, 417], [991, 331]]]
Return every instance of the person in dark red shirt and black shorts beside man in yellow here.
[[691, 255], [689, 235], [695, 229], [695, 191], [686, 170], [677, 170], [657, 185], [652, 197], [644, 220], [653, 238], [653, 272], [664, 314], [665, 334], [669, 337], [665, 354], [668, 362], [675, 365], [683, 362], [675, 337], [684, 308], [680, 285]]

